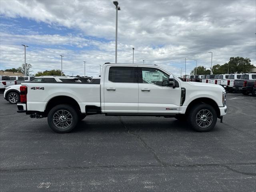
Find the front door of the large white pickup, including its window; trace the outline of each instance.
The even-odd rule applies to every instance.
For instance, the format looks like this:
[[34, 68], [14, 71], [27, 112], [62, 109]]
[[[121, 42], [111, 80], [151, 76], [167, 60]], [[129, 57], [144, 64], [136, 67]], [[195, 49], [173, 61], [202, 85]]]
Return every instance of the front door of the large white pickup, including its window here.
[[151, 67], [139, 68], [138, 73], [138, 113], [175, 114], [179, 112], [181, 88], [168, 86], [168, 74]]

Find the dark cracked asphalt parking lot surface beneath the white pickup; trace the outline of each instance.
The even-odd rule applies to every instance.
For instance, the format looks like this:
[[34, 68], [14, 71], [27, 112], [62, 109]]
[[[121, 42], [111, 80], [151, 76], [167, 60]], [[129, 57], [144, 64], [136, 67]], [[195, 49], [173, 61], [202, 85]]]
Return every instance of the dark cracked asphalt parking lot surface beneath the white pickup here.
[[255, 191], [256, 98], [227, 94], [211, 132], [174, 118], [87, 116], [57, 134], [0, 94], [1, 191]]

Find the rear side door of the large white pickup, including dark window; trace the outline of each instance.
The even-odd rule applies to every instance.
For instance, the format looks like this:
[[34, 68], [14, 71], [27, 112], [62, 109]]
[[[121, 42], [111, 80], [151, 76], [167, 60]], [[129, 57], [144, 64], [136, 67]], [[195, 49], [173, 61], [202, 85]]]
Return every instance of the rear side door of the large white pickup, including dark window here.
[[106, 67], [103, 105], [106, 113], [138, 113], [137, 67]]

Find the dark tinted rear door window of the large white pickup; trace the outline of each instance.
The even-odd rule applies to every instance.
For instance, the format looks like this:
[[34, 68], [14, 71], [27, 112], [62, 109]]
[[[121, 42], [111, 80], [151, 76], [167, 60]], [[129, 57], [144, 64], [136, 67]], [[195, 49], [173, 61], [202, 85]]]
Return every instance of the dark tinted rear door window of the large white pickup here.
[[108, 80], [115, 83], [137, 83], [138, 72], [135, 67], [110, 67]]

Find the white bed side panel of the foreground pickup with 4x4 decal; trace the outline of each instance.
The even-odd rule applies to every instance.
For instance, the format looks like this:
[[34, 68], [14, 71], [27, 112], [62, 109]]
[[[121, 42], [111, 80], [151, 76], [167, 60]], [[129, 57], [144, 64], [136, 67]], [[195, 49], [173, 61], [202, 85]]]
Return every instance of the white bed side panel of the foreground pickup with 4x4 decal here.
[[78, 102], [81, 112], [86, 105], [100, 107], [99, 83], [67, 82], [22, 82], [27, 86], [27, 110], [44, 112], [50, 99], [56, 96], [69, 96]]

